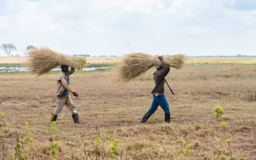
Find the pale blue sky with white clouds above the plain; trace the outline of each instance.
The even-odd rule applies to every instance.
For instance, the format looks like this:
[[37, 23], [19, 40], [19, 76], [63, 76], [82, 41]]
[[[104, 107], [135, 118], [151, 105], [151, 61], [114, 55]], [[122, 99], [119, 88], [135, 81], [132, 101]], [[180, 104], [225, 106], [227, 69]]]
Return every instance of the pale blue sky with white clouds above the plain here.
[[[255, 0], [0, 0], [0, 44], [64, 54], [256, 55]], [[4, 56], [0, 52], [0, 56]]]

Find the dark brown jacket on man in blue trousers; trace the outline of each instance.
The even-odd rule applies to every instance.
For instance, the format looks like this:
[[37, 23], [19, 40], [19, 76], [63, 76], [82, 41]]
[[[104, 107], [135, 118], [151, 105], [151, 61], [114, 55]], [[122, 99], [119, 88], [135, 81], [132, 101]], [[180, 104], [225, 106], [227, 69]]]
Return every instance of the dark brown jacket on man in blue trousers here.
[[170, 67], [163, 65], [159, 70], [154, 72], [155, 88], [151, 93], [164, 93], [164, 77], [170, 72]]

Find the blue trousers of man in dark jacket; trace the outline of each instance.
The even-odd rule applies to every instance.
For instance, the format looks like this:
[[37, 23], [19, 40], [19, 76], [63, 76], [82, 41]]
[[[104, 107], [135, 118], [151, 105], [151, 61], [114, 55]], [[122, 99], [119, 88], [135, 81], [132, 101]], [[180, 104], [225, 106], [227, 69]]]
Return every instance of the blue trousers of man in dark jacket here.
[[158, 106], [161, 106], [161, 108], [164, 110], [164, 113], [170, 113], [169, 104], [164, 94], [158, 95], [158, 96], [153, 95], [153, 96], [154, 96], [154, 100], [152, 102], [151, 108], [148, 110], [148, 113], [150, 113], [150, 115], [155, 113]]

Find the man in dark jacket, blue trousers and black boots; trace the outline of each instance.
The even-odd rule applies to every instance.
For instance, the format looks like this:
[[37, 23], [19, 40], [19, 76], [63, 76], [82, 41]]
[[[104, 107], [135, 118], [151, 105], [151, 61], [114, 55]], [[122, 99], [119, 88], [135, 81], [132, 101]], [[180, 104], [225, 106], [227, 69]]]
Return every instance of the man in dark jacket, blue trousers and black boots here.
[[164, 77], [166, 77], [170, 72], [170, 67], [163, 64], [163, 56], [159, 56], [159, 60], [162, 62], [162, 64], [156, 66], [156, 72], [154, 72], [154, 80], [156, 86], [151, 92], [154, 99], [151, 108], [143, 116], [140, 122], [142, 124], [147, 123], [148, 118], [155, 113], [158, 106], [161, 106], [161, 108], [164, 110], [165, 122], [170, 123], [171, 121], [169, 104], [166, 100], [166, 97], [164, 96]]

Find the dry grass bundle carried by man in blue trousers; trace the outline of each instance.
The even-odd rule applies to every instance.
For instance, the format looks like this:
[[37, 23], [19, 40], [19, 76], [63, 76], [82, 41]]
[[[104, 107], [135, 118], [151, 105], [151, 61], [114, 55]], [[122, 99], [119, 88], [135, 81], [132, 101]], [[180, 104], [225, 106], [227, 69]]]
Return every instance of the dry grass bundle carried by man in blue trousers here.
[[[163, 63], [172, 68], [179, 69], [184, 64], [184, 55], [163, 56]], [[124, 58], [124, 63], [120, 67], [120, 76], [129, 81], [147, 72], [150, 68], [161, 65], [158, 56], [146, 53], [133, 53]]]

